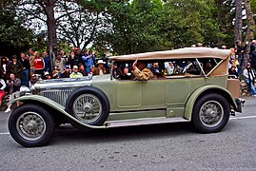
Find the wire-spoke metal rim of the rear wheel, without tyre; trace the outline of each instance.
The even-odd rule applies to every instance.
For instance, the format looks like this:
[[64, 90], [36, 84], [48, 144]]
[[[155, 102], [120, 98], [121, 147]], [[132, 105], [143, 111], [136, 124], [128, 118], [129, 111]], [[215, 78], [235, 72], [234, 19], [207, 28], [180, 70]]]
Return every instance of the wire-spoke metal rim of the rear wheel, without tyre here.
[[222, 122], [224, 109], [217, 101], [208, 101], [200, 108], [200, 121], [207, 127], [214, 127]]

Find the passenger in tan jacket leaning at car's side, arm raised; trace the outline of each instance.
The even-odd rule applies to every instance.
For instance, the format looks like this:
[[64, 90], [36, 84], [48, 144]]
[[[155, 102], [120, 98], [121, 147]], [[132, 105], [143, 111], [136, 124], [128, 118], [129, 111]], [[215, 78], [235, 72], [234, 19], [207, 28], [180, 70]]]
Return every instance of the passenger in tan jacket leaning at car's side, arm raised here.
[[133, 74], [135, 76], [135, 80], [149, 80], [154, 78], [154, 74], [152, 71], [147, 67], [145, 62], [138, 62], [138, 58], [132, 65]]

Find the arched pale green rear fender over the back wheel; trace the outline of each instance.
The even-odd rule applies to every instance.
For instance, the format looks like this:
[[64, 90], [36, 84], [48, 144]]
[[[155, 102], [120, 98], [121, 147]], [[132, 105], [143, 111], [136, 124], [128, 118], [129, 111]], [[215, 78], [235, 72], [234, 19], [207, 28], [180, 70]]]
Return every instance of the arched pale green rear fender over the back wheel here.
[[197, 88], [187, 99], [184, 117], [187, 118], [188, 121], [191, 121], [193, 107], [194, 107], [194, 104], [196, 103], [198, 97], [206, 91], [219, 93], [219, 94], [223, 95], [226, 98], [228, 104], [231, 104], [232, 106], [234, 106], [234, 108], [237, 108], [237, 104], [235, 103], [234, 99], [232, 98], [231, 93], [229, 91], [227, 91], [226, 88], [224, 88], [222, 86], [218, 86], [218, 85], [201, 86], [201, 87]]

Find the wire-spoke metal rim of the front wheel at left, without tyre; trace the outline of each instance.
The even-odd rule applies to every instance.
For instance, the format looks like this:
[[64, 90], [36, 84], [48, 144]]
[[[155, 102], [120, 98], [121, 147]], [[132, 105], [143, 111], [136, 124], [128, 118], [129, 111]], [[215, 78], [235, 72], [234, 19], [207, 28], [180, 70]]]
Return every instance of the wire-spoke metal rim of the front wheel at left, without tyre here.
[[38, 113], [26, 112], [18, 118], [16, 128], [24, 139], [36, 141], [45, 134], [46, 122]]

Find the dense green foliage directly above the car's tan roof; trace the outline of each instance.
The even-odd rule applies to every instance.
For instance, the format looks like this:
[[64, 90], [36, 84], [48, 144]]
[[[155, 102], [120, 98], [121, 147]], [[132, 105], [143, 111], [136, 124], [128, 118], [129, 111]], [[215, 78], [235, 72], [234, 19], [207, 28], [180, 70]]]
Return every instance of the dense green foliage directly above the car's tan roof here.
[[[111, 28], [96, 47], [128, 54], [171, 47], [233, 45], [231, 0], [133, 0], [109, 3]], [[222, 9], [223, 8], [223, 9]]]

